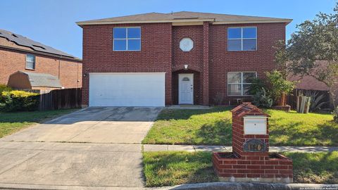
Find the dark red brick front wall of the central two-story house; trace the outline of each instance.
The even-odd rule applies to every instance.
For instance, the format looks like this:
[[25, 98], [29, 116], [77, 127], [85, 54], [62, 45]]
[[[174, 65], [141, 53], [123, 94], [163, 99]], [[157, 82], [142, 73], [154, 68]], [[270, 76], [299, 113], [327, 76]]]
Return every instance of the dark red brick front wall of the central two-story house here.
[[[173, 26], [172, 23], [82, 25], [82, 104], [89, 103], [89, 72], [165, 72], [165, 104], [178, 103], [178, 74], [194, 73], [194, 103], [210, 105], [216, 94], [225, 101], [227, 72], [255, 71], [258, 77], [275, 68], [273, 46], [285, 39], [286, 23]], [[141, 51], [113, 51], [113, 27], [141, 27]], [[257, 27], [257, 51], [227, 51], [227, 27]], [[180, 50], [180, 39], [194, 41], [192, 51]], [[188, 65], [188, 70], [183, 70]]]

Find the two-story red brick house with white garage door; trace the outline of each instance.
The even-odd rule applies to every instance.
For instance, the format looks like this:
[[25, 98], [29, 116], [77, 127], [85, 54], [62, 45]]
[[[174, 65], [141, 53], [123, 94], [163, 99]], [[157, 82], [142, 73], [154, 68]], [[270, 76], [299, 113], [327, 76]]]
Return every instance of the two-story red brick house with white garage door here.
[[83, 106], [234, 103], [275, 68], [292, 20], [214, 13], [146, 13], [78, 22]]

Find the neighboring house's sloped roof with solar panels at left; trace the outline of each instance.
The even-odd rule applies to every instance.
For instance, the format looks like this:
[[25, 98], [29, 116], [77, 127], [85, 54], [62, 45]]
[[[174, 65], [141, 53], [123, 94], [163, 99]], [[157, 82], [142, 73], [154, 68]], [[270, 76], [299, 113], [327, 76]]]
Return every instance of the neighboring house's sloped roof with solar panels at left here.
[[42, 53], [51, 53], [57, 56], [65, 56], [66, 58], [75, 58], [75, 56], [72, 56], [63, 51], [54, 49], [51, 46], [46, 46], [39, 42], [35, 42], [32, 39], [29, 39], [27, 37], [23, 37], [20, 34], [14, 34], [13, 32], [9, 32], [6, 30], [0, 30], [0, 37], [5, 38], [10, 42], [14, 42], [18, 46], [28, 47], [32, 49], [32, 51], [37, 51], [37, 52], [42, 52]]

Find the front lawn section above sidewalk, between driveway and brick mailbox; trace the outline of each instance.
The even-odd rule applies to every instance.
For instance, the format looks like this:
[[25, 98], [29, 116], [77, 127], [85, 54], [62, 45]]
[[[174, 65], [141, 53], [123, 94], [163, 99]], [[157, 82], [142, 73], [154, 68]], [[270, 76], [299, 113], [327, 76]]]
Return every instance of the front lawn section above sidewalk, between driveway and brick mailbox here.
[[231, 144], [231, 108], [164, 109], [144, 144]]

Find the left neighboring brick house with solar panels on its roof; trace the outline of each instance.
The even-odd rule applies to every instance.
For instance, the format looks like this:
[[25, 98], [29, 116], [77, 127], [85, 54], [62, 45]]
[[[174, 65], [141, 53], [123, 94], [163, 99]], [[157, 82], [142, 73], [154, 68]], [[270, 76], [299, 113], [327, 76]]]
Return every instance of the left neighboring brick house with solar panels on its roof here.
[[[0, 65], [0, 84], [8, 84], [13, 88], [19, 88], [23, 73], [30, 76], [34, 75], [32, 73], [39, 75], [39, 87], [33, 87], [34, 84], [21, 84], [25, 87], [33, 85], [29, 89], [82, 87], [82, 60], [6, 30], [0, 30]], [[8, 82], [14, 73], [15, 76]], [[55, 83], [61, 84], [61, 87], [47, 87], [51, 85], [49, 80], [42, 80], [47, 74], [58, 80]]]

